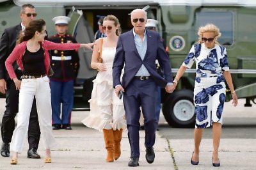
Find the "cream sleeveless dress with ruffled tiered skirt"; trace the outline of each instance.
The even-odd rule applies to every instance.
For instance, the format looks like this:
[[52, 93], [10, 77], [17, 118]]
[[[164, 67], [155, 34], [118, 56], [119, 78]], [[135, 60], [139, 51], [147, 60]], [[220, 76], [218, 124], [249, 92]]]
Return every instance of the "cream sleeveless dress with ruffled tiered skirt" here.
[[115, 47], [102, 47], [102, 61], [107, 70], [99, 72], [93, 80], [92, 98], [89, 100], [90, 115], [82, 121], [86, 127], [100, 131], [127, 128], [123, 99], [116, 97], [113, 89], [112, 66], [115, 52]]

